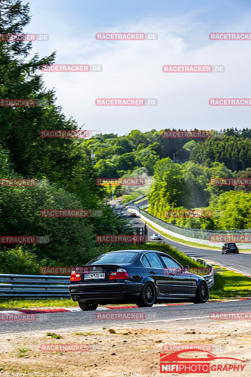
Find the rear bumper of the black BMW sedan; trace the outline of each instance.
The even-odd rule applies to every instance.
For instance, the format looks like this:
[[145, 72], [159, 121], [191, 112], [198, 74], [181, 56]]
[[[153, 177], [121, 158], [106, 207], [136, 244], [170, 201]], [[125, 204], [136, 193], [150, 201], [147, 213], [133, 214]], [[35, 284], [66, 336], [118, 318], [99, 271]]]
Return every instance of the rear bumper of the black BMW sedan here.
[[70, 296], [74, 301], [135, 302], [143, 284], [141, 283], [78, 283], [69, 285]]

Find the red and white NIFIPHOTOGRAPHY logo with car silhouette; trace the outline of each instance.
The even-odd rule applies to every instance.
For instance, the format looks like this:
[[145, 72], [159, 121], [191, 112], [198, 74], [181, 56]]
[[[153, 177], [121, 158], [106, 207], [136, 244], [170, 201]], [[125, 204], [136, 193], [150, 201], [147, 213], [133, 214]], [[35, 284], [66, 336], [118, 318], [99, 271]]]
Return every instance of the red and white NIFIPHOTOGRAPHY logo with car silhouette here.
[[[180, 357], [185, 352], [202, 352], [202, 357]], [[218, 360], [219, 362], [215, 362]], [[223, 361], [220, 361], [223, 360]], [[227, 360], [227, 361], [226, 361]], [[231, 361], [233, 360], [233, 361]], [[218, 371], [242, 372], [246, 361], [233, 357], [217, 357], [202, 349], [183, 349], [171, 354], [160, 354], [160, 373], [210, 373]]]

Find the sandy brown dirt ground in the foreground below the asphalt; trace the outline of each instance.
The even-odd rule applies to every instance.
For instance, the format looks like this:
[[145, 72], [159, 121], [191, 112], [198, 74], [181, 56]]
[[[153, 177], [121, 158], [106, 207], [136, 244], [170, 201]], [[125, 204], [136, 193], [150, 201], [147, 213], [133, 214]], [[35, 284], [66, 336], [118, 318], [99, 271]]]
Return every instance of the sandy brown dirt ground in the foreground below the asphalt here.
[[[250, 323], [248, 320], [215, 322], [201, 319], [148, 323], [141, 328], [137, 328], [139, 325], [83, 328], [75, 333], [56, 331], [63, 337], [59, 339], [46, 333], [4, 335], [0, 348], [0, 372], [54, 372], [51, 376], [63, 372], [61, 375], [88, 377], [123, 376], [127, 374], [121, 372], [128, 372], [129, 376], [160, 376], [160, 353], [167, 352], [163, 346], [186, 344], [219, 346], [220, 349], [210, 352], [217, 357], [246, 361], [241, 375], [248, 377], [251, 374]], [[41, 351], [40, 346], [45, 344], [89, 345], [90, 351]], [[188, 356], [192, 356], [190, 352]], [[231, 374], [236, 375], [236, 372], [228, 372]]]

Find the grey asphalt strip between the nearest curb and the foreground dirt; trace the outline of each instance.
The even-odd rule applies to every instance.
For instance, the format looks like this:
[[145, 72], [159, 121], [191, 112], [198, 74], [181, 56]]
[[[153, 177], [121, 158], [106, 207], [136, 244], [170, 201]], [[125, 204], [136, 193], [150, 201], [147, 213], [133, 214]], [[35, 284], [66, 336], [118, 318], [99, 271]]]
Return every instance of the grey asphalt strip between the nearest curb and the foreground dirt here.
[[[153, 323], [173, 322], [176, 320], [196, 320], [209, 319], [210, 313], [251, 313], [251, 300], [245, 301], [225, 301], [225, 302], [207, 302], [205, 304], [188, 304], [158, 306], [151, 308], [130, 308], [109, 311], [86, 311], [86, 312], [67, 312], [67, 313], [46, 313], [37, 314], [35, 320], [0, 321], [0, 333], [19, 334], [19, 333], [44, 333], [45, 331], [80, 331], [96, 328], [111, 328], [120, 325], [140, 325], [146, 326]], [[138, 314], [140, 319], [123, 318], [119, 319], [118, 314], [132, 313]], [[111, 318], [111, 314], [117, 317]], [[103, 315], [103, 317], [102, 317]], [[131, 316], [131, 315], [130, 315]], [[110, 319], [111, 318], [111, 319]], [[121, 318], [121, 317], [120, 317]], [[214, 322], [214, 320], [212, 320]], [[249, 322], [251, 320], [249, 319]]]

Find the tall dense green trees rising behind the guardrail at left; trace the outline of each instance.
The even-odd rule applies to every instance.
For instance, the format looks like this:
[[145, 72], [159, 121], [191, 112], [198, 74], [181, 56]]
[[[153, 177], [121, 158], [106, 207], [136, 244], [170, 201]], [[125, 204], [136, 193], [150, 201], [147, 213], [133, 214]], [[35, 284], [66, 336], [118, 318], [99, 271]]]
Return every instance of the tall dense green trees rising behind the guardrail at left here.
[[[29, 6], [1, 2], [0, 33], [18, 34], [29, 23]], [[55, 53], [30, 57], [32, 42], [0, 40], [0, 98], [47, 99], [46, 107], [0, 107], [0, 179], [36, 178], [35, 187], [0, 187], [1, 236], [49, 236], [48, 244], [0, 245], [0, 272], [37, 273], [39, 265], [83, 264], [106, 250], [95, 242], [105, 224], [114, 234], [132, 233], [131, 225], [106, 204], [105, 190], [96, 185], [97, 169], [81, 139], [40, 138], [40, 130], [79, 129], [46, 90], [41, 64], [52, 64]], [[101, 217], [41, 218], [40, 210], [102, 210]], [[110, 230], [109, 230], [110, 231]]]

